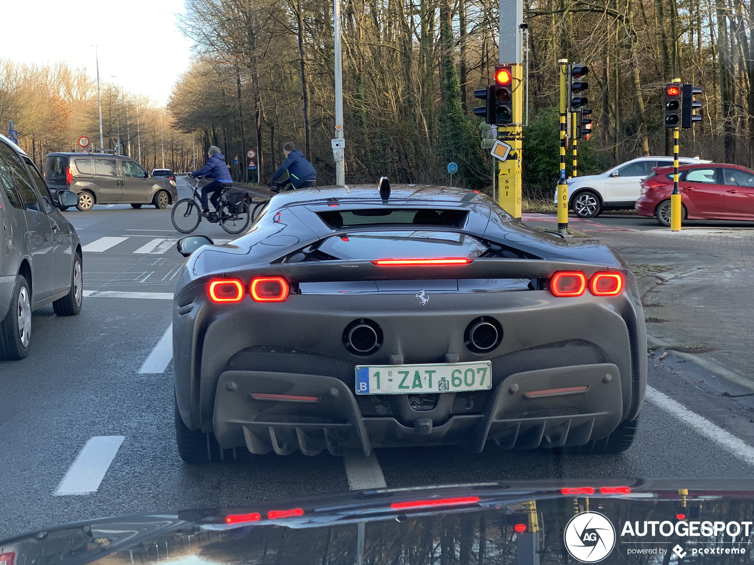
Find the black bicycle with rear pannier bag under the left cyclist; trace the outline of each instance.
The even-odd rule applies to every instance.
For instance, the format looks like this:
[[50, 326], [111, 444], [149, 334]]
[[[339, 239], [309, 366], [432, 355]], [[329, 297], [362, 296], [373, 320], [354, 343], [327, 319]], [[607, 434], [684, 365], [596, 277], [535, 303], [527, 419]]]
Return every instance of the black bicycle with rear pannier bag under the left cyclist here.
[[[186, 182], [192, 188], [192, 197], [182, 198], [173, 205], [173, 212], [170, 212], [170, 220], [173, 221], [173, 227], [182, 234], [191, 234], [198, 228], [201, 221], [201, 194], [198, 192], [199, 178], [189, 176]], [[195, 179], [192, 184], [191, 179]], [[251, 220], [247, 196], [240, 192], [228, 194], [225, 190], [217, 203], [217, 212], [207, 217], [207, 221], [213, 224], [219, 222], [222, 229], [228, 234], [240, 234], [244, 231]]]

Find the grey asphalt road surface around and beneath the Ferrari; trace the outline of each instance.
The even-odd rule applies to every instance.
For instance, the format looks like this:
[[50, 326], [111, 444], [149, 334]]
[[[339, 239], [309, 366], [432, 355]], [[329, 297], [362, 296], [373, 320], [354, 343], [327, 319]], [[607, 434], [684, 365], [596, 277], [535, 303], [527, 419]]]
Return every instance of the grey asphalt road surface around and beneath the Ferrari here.
[[[182, 182], [179, 186], [185, 191]], [[59, 318], [51, 307], [38, 310], [29, 358], [0, 362], [0, 539], [105, 515], [249, 505], [383, 481], [402, 487], [500, 478], [754, 475], [754, 400], [722, 395], [749, 391], [687, 367], [691, 364], [673, 353], [659, 359], [662, 350], [654, 351], [649, 364], [651, 389], [639, 436], [621, 455], [468, 454], [430, 447], [375, 450], [368, 460], [360, 454], [296, 452], [251, 463], [182, 463], [173, 435], [172, 362], [169, 353], [164, 356], [169, 295], [183, 261], [175, 249], [179, 234], [172, 229], [170, 209], [96, 206], [66, 215], [84, 246], [94, 244], [88, 249], [115, 242], [103, 243], [104, 237], [124, 239], [101, 251], [84, 248], [89, 292], [80, 316]], [[230, 239], [204, 221], [197, 233]], [[121, 294], [134, 292], [151, 298]], [[143, 372], [146, 365], [152, 372]], [[95, 440], [106, 444], [97, 450], [91, 443], [95, 437], [110, 439]], [[94, 470], [82, 470], [84, 461]], [[94, 483], [91, 492], [67, 493]]]

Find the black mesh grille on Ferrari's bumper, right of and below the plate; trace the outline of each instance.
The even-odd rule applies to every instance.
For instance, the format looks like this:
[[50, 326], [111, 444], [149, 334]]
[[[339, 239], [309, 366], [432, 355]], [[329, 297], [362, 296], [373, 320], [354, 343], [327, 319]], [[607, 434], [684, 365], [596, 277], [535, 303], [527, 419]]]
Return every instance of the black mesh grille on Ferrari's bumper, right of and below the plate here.
[[[515, 373], [573, 365], [608, 362], [602, 347], [586, 340], [555, 341], [552, 344], [512, 351], [492, 359], [492, 389]], [[492, 390], [458, 392], [451, 414], [482, 414]]]

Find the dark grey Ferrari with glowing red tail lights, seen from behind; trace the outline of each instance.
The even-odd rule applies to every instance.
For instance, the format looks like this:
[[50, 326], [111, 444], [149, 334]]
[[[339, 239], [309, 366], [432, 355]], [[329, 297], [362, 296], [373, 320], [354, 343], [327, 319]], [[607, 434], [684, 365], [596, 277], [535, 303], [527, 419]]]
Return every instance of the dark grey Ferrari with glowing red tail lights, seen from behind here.
[[527, 228], [484, 194], [386, 182], [278, 194], [180, 273], [179, 452], [616, 453], [636, 434], [645, 342], [615, 252]]

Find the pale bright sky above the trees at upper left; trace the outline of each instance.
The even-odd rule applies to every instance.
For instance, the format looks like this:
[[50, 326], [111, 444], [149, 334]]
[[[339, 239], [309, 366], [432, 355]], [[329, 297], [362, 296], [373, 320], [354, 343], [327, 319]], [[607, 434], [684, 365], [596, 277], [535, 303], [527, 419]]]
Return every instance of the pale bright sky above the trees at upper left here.
[[[189, 66], [192, 41], [176, 27], [183, 0], [128, 2], [3, 2], [0, 58], [17, 63], [66, 61], [97, 76], [93, 44], [99, 44], [100, 81], [167, 103]], [[112, 78], [117, 75], [118, 78]]]

